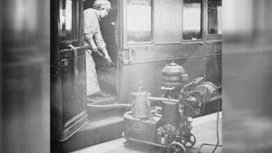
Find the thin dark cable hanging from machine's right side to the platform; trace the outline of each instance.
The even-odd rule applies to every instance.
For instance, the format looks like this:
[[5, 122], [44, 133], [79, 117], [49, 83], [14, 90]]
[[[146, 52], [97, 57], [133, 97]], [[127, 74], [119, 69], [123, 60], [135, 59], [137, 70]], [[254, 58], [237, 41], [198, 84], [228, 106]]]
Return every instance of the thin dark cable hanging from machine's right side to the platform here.
[[[210, 84], [211, 86], [213, 86], [213, 88], [216, 89], [216, 94], [217, 94], [218, 100], [219, 100], [219, 93], [218, 93], [218, 88], [216, 87], [216, 85], [214, 85], [211, 82], [204, 82], [203, 84]], [[200, 147], [199, 147], [199, 153], [200, 153], [200, 150], [201, 150], [202, 146], [204, 146], [204, 145], [216, 146], [216, 147], [213, 148], [212, 153], [216, 151], [216, 149], [217, 149], [218, 146], [222, 147], [222, 145], [219, 145], [219, 134], [218, 134], [219, 133], [219, 130], [218, 130], [219, 111], [220, 111], [220, 102], [218, 102], [218, 111], [217, 111], [217, 120], [216, 120], [216, 137], [217, 137], [217, 143], [216, 143], [216, 145], [209, 144], [209, 143], [202, 143], [202, 145], [200, 145]]]

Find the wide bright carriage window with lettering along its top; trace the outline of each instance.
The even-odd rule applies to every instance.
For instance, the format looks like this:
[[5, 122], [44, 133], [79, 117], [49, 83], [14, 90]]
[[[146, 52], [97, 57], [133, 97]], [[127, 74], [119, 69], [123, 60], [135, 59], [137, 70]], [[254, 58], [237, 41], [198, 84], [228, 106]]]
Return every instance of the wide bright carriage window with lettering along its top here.
[[128, 44], [152, 42], [152, 0], [128, 0], [126, 15]]

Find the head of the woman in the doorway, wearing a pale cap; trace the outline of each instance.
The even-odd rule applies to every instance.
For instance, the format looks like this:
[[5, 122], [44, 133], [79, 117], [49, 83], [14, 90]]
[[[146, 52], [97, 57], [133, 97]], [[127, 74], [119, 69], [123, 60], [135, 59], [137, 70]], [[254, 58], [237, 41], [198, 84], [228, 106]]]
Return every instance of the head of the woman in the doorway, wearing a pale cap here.
[[107, 0], [96, 0], [93, 3], [93, 8], [98, 10], [100, 17], [105, 17], [109, 14], [109, 11], [112, 10], [112, 5], [110, 1]]

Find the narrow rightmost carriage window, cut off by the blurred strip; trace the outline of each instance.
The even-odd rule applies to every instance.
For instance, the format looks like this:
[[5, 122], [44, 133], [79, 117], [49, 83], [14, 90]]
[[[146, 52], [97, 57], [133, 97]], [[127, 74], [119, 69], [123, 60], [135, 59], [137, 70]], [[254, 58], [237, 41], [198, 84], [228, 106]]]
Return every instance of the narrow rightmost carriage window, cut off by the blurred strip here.
[[222, 34], [221, 0], [208, 0], [208, 33]]

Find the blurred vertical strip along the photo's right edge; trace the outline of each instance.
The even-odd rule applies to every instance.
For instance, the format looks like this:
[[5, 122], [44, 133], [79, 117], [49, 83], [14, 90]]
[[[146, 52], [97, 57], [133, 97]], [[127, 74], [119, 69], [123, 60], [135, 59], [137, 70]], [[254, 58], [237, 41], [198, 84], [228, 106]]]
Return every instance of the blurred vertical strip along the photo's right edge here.
[[222, 6], [223, 152], [271, 152], [272, 1]]

